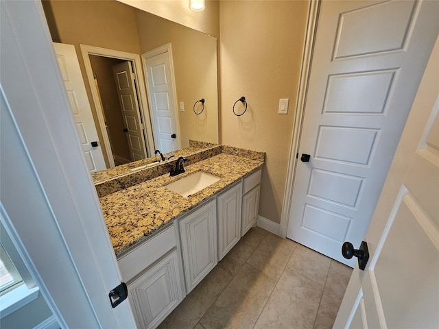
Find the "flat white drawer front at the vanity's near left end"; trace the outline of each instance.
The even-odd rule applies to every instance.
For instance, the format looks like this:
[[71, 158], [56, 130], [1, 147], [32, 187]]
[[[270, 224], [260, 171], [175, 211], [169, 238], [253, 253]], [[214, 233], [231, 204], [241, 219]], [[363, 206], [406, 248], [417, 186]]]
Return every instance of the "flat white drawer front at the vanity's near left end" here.
[[128, 282], [177, 245], [174, 225], [154, 235], [117, 260], [122, 279]]

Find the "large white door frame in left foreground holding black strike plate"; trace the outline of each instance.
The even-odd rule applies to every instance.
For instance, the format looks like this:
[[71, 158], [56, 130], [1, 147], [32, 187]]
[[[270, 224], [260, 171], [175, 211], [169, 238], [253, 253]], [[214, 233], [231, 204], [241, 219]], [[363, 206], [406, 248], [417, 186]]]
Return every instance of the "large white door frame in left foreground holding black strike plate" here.
[[8, 224], [38, 270], [40, 291], [60, 326], [135, 328], [128, 302], [110, 305], [108, 293], [120, 284], [121, 273], [43, 6], [39, 0], [1, 1], [0, 6], [1, 43], [10, 45], [1, 51], [8, 58], [1, 74], [8, 108], [2, 111], [13, 119], [5, 132], [17, 137], [10, 154], [20, 160], [11, 162], [1, 182], [8, 191], [1, 195]]

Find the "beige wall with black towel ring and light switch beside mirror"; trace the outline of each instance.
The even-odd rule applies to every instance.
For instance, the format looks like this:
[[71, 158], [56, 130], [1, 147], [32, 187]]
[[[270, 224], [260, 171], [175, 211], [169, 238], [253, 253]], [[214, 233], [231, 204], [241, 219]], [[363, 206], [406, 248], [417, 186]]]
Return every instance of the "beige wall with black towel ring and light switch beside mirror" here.
[[[222, 143], [265, 151], [259, 215], [276, 223], [281, 210], [307, 1], [220, 1], [220, 103]], [[241, 117], [233, 103], [245, 96]], [[288, 114], [277, 114], [289, 98]]]

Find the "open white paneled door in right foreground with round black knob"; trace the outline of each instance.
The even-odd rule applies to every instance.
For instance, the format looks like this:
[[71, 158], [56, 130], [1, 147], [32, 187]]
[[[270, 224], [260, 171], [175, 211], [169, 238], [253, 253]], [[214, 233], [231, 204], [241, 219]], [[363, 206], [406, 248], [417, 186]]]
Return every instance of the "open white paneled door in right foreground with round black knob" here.
[[366, 235], [368, 266], [355, 267], [334, 328], [438, 328], [438, 59], [439, 38]]

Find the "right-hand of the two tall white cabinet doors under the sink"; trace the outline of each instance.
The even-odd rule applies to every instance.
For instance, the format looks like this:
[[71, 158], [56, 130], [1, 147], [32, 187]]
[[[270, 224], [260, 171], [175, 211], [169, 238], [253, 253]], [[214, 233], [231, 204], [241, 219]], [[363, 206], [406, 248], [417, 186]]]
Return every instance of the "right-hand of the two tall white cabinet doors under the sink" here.
[[218, 195], [218, 260], [241, 239], [241, 183]]

